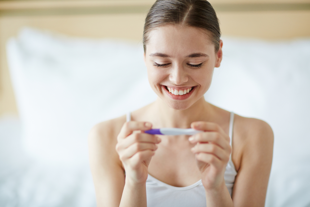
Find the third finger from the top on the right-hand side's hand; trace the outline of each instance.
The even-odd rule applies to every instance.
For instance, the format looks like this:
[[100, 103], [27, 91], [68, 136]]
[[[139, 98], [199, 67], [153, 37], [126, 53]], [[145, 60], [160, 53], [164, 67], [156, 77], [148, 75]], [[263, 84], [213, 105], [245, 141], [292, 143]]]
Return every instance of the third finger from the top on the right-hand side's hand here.
[[208, 153], [208, 154], [213, 154], [215, 155], [219, 160], [222, 160], [224, 162], [228, 162], [229, 160], [229, 151], [223, 150], [221, 147], [214, 145], [214, 144], [197, 144], [195, 145], [191, 151], [193, 153]]

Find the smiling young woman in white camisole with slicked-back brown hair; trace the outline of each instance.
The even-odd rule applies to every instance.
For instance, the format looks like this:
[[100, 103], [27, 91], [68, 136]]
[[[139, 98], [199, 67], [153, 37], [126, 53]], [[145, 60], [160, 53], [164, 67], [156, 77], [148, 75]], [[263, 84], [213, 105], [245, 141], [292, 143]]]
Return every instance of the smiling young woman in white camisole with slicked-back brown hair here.
[[[272, 129], [204, 100], [223, 46], [210, 3], [157, 0], [146, 17], [143, 42], [148, 80], [158, 98], [127, 119], [91, 130], [97, 205], [263, 207]], [[203, 132], [144, 133], [162, 127]]]

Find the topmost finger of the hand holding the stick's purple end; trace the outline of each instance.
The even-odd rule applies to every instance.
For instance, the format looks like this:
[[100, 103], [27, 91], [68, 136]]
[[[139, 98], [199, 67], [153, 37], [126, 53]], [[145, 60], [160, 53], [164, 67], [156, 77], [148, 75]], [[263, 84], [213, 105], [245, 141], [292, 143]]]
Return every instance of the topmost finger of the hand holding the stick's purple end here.
[[117, 136], [117, 140], [124, 139], [128, 135], [132, 134], [135, 130], [146, 131], [152, 128], [152, 124], [149, 122], [141, 121], [129, 121], [123, 124], [121, 132]]

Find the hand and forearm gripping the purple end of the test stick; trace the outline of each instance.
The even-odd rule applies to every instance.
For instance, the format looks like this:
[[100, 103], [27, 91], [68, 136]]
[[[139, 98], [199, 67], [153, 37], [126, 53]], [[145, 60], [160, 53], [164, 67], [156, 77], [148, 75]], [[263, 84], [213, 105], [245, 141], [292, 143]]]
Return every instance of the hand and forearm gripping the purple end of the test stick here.
[[125, 187], [120, 206], [146, 207], [146, 180], [148, 164], [160, 139], [146, 133], [134, 133], [152, 128], [148, 122], [130, 121], [117, 136], [116, 151], [126, 171]]

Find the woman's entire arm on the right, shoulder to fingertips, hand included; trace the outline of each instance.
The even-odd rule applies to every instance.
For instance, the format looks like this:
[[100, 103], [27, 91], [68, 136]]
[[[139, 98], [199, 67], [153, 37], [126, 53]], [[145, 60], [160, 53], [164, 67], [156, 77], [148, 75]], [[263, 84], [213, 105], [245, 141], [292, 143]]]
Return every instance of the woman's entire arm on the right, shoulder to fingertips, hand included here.
[[[237, 116], [233, 149], [241, 151], [240, 166], [230, 197], [224, 171], [231, 152], [229, 137], [215, 123], [194, 122], [192, 127], [205, 131], [191, 137], [206, 191], [207, 206], [263, 207], [272, 163], [273, 133], [259, 120]], [[238, 129], [238, 130], [235, 130]]]

